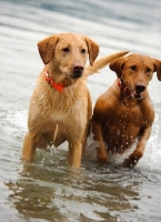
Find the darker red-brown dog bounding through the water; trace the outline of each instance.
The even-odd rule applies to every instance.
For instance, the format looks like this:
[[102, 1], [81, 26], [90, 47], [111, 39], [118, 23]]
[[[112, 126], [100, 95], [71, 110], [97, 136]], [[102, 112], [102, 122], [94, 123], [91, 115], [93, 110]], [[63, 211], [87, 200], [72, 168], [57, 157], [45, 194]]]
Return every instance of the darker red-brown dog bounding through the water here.
[[138, 139], [137, 148], [123, 162], [134, 167], [151, 133], [154, 110], [148, 84], [155, 71], [161, 81], [161, 61], [130, 54], [113, 60], [109, 67], [118, 80], [95, 102], [92, 132], [98, 141], [97, 157], [107, 162], [109, 154], [123, 153]]

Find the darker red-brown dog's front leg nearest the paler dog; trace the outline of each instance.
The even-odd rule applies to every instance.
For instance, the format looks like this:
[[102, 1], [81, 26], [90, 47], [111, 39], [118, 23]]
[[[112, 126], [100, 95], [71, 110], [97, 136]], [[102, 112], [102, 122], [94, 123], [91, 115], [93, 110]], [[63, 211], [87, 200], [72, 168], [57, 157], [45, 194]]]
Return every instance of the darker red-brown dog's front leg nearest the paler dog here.
[[107, 162], [108, 153], [107, 153], [107, 149], [104, 147], [104, 141], [103, 141], [103, 137], [102, 137], [102, 125], [94, 120], [92, 121], [92, 132], [94, 135], [94, 141], [98, 143], [97, 144], [98, 160], [101, 162]]

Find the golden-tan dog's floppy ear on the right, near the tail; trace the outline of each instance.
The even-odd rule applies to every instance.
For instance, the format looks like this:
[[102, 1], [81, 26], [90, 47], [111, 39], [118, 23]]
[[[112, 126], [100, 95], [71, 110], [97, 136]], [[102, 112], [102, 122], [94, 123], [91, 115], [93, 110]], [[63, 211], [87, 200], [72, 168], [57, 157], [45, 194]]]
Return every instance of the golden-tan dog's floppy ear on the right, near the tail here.
[[85, 37], [85, 42], [89, 51], [90, 65], [92, 65], [99, 54], [99, 46], [93, 40], [87, 37]]

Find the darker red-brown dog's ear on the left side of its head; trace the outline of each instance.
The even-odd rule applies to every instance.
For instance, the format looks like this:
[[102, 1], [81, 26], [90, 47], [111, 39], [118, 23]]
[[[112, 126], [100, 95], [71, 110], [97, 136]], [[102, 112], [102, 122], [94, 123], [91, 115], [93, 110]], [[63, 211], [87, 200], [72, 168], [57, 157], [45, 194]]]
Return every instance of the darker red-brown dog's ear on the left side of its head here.
[[119, 59], [114, 59], [109, 64], [109, 68], [117, 73], [118, 78], [121, 78], [122, 75], [122, 69], [123, 69], [125, 60], [127, 60], [125, 57], [121, 57]]

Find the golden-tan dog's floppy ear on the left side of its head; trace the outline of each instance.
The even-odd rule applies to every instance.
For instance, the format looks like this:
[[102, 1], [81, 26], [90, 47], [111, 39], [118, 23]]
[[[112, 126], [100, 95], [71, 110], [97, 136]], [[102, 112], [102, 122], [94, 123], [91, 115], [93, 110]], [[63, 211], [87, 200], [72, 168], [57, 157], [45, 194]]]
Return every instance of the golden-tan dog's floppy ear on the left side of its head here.
[[38, 49], [40, 57], [44, 64], [48, 64], [51, 60], [54, 47], [59, 40], [59, 36], [51, 36], [38, 42]]

